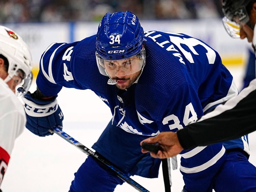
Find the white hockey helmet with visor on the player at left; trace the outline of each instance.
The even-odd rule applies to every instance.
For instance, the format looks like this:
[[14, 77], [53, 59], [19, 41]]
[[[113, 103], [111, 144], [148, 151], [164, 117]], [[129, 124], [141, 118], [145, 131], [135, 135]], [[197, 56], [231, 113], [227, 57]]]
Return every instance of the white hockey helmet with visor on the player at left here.
[[21, 89], [16, 92], [18, 96], [24, 95], [32, 82], [32, 58], [28, 45], [11, 29], [0, 26], [0, 54], [9, 62], [8, 76], [4, 82], [8, 82], [18, 72], [22, 72], [24, 77], [19, 84]]

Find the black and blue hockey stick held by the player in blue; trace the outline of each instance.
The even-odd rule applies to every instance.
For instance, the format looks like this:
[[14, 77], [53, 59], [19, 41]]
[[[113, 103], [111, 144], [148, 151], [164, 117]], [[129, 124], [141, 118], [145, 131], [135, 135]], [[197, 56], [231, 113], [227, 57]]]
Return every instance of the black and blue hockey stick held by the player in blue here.
[[[52, 130], [49, 130], [52, 132]], [[91, 156], [96, 162], [100, 163], [101, 165], [105, 166], [106, 168], [112, 170], [116, 173], [116, 175], [125, 181], [126, 183], [130, 184], [133, 188], [137, 189], [140, 192], [149, 192], [147, 189], [142, 187], [139, 183], [132, 180], [127, 174], [117, 169], [112, 163], [110, 163], [107, 159], [105, 159], [103, 156], [100, 156], [98, 154], [95, 154], [92, 150], [85, 147], [83, 144], [79, 143], [77, 140], [75, 140], [73, 137], [62, 131], [59, 127], [53, 127], [53, 132], [74, 145], [76, 148], [83, 151], [86, 155]]]

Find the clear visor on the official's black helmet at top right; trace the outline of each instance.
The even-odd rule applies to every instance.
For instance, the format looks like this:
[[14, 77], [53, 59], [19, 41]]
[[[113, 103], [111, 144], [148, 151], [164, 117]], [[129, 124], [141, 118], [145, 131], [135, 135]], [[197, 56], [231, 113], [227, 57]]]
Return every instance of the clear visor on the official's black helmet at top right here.
[[227, 17], [222, 18], [222, 23], [228, 35], [232, 38], [240, 38], [240, 25], [234, 21], [229, 20]]

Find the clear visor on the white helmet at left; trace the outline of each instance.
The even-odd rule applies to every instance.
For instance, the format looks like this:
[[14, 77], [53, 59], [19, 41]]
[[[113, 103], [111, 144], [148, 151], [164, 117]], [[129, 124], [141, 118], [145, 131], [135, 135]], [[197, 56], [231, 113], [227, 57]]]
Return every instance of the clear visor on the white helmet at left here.
[[[12, 78], [14, 77], [17, 78], [17, 76], [13, 76]], [[32, 75], [32, 72], [30, 71], [27, 77], [24, 77], [23, 79], [20, 78], [20, 82], [18, 81], [15, 82], [17, 83], [16, 89], [15, 89], [16, 90], [15, 94], [17, 96], [25, 95], [28, 92], [30, 85], [32, 83], [32, 78], [33, 78], [33, 75]]]

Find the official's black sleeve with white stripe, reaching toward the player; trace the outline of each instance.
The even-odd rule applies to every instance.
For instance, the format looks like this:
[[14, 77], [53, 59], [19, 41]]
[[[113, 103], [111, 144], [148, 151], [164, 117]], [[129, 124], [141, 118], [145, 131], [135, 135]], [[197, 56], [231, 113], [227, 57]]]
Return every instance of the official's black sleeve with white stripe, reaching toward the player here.
[[184, 149], [239, 138], [256, 130], [256, 79], [236, 97], [177, 132]]

